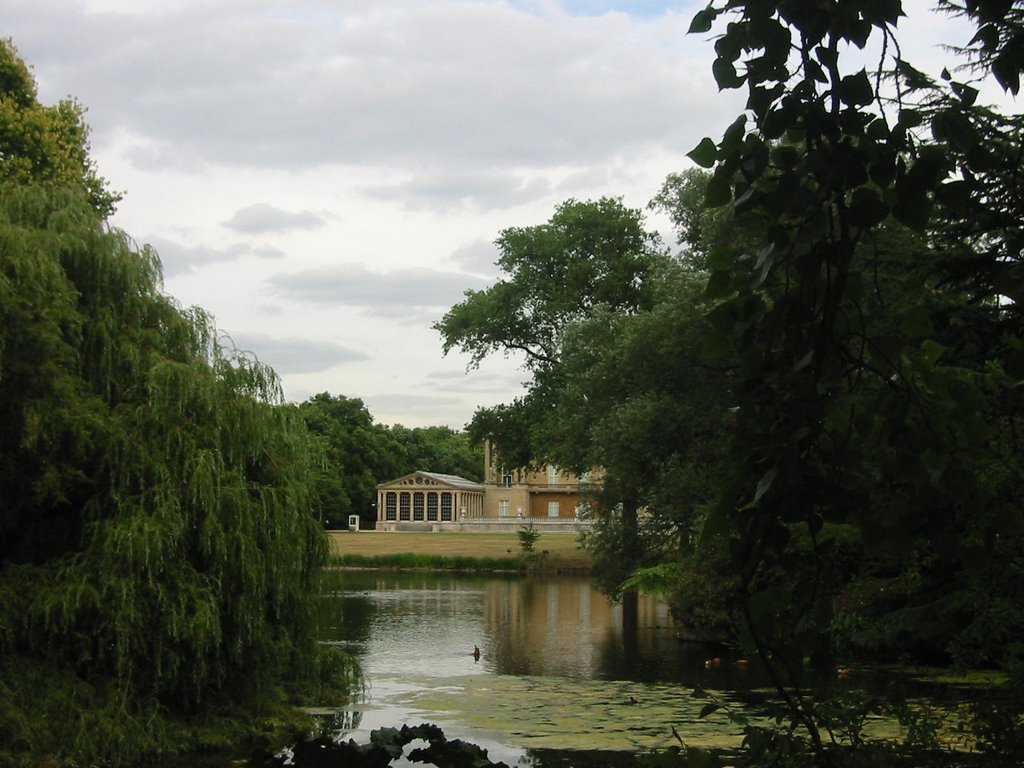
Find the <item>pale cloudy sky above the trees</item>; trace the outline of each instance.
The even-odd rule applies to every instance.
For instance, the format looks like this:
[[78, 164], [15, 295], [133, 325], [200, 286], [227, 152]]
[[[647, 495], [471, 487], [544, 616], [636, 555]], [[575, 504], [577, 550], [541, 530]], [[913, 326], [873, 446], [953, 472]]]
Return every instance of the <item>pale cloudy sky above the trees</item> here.
[[[286, 399], [459, 429], [526, 376], [467, 370], [431, 327], [498, 279], [501, 230], [568, 199], [645, 208], [740, 113], [686, 35], [705, 4], [5, 0], [0, 35], [43, 103], [88, 110], [111, 223]], [[905, 6], [908, 57], [938, 60], [953, 23]]]

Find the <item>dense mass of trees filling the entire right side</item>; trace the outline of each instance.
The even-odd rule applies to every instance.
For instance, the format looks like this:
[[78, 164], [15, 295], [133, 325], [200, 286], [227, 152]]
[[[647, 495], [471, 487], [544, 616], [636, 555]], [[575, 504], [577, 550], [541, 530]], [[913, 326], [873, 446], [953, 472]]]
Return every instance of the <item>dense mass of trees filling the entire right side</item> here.
[[[937, 6], [977, 32], [941, 80], [902, 58], [898, 0], [710, 4], [691, 32], [716, 30], [714, 77], [749, 99], [653, 203], [683, 252], [569, 201], [503, 232], [505, 276], [437, 326], [476, 359], [526, 353], [525, 394], [473, 431], [604, 471], [606, 588], [668, 590], [771, 672], [787, 713], [748, 729], [751, 764], [899, 757], [842, 749], [870, 714], [912, 725], [895, 692], [806, 693], [806, 660], [838, 653], [1001, 670], [962, 726], [1024, 756], [1024, 145], [980, 103], [1019, 90], [1024, 8]], [[942, 762], [934, 728], [908, 738]]]

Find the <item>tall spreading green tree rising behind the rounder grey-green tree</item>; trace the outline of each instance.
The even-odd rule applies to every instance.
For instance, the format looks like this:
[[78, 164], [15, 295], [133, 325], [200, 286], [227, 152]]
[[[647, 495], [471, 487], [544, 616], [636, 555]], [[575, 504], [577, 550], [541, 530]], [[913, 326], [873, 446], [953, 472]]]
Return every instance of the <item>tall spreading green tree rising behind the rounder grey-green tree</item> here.
[[[478, 412], [470, 433], [495, 441], [512, 463], [589, 470], [596, 465], [581, 466], [579, 455], [570, 459], [554, 442], [537, 439], [543, 432], [539, 425], [564, 383], [568, 330], [588, 318], [650, 306], [649, 279], [665, 259], [657, 238], [644, 229], [639, 211], [604, 198], [567, 201], [546, 224], [503, 230], [497, 245], [498, 265], [508, 278], [484, 291], [468, 291], [435, 328], [445, 353], [459, 347], [474, 364], [498, 351], [521, 353], [534, 380], [523, 398]], [[626, 534], [621, 561], [636, 564], [637, 500], [622, 502]]]

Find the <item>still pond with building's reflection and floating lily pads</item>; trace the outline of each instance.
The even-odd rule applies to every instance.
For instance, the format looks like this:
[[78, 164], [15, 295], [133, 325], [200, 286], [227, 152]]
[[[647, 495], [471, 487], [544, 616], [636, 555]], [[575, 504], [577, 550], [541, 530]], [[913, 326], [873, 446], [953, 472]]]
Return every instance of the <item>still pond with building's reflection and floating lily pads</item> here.
[[[583, 577], [339, 571], [322, 604], [326, 642], [354, 651], [367, 678], [339, 735], [436, 723], [509, 765], [631, 765], [687, 743], [735, 746], [724, 715], [698, 717], [713, 692], [748, 708], [767, 684], [721, 649], [681, 642], [664, 604], [636, 622]], [[475, 651], [478, 649], [479, 653]], [[713, 659], [721, 659], [715, 663]], [[577, 755], [579, 760], [572, 756]]]

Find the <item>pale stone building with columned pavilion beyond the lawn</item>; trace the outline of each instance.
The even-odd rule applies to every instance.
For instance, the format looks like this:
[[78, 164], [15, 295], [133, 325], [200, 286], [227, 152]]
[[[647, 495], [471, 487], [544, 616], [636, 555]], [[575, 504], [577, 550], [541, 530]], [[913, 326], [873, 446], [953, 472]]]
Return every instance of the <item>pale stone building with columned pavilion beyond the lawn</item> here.
[[417, 471], [377, 486], [378, 530], [501, 530], [529, 523], [547, 530], [590, 524], [590, 477], [554, 465], [507, 468], [483, 449], [483, 483]]

